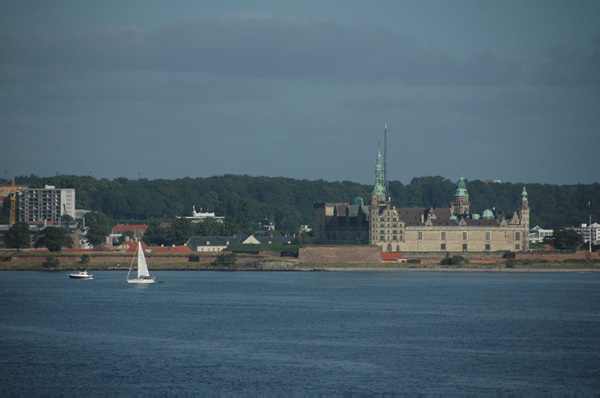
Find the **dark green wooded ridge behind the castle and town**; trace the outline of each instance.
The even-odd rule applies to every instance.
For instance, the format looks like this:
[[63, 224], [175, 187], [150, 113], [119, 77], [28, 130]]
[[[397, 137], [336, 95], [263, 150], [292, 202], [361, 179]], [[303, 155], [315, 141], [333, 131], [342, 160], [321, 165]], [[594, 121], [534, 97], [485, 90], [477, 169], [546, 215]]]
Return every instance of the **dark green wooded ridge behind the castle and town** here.
[[[40, 188], [75, 188], [78, 209], [106, 214], [113, 221], [151, 222], [190, 216], [196, 210], [226, 216], [246, 232], [267, 219], [279, 231], [296, 232], [312, 224], [313, 203], [349, 202], [361, 196], [369, 202], [371, 185], [350, 181], [309, 181], [282, 177], [223, 175], [176, 180], [96, 179], [90, 176], [59, 175], [50, 178], [16, 177], [17, 184]], [[511, 216], [518, 210], [523, 184], [486, 184], [468, 181], [473, 212], [495, 209]], [[527, 184], [531, 226], [564, 227], [587, 222], [589, 212], [600, 215], [600, 184]], [[442, 177], [414, 178], [410, 184], [390, 182], [392, 204], [397, 207], [447, 207], [454, 200], [456, 182]], [[591, 208], [588, 207], [591, 202]], [[6, 208], [6, 206], [5, 206]]]

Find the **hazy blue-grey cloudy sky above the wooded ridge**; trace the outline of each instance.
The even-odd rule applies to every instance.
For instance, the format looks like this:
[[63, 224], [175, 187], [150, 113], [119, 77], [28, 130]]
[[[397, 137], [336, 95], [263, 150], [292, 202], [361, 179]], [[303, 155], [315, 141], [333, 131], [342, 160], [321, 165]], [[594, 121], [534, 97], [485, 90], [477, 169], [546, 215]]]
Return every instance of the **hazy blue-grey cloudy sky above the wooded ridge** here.
[[600, 182], [600, 1], [0, 0], [0, 172]]

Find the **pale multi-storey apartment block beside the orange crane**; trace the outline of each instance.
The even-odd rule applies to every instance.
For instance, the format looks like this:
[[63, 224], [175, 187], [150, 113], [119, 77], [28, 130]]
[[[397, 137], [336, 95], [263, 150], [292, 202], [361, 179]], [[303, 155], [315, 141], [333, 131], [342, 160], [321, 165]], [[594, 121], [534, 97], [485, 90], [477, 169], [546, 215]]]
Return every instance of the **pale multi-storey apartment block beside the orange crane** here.
[[21, 191], [19, 221], [59, 223], [65, 214], [75, 219], [75, 189], [46, 185]]

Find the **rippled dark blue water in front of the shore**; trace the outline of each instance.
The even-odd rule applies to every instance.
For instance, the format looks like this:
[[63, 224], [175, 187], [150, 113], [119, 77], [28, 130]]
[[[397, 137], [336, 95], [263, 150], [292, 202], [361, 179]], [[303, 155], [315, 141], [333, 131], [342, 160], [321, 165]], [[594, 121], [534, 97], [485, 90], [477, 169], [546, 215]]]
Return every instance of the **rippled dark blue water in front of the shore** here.
[[600, 274], [0, 272], [0, 395], [594, 394]]

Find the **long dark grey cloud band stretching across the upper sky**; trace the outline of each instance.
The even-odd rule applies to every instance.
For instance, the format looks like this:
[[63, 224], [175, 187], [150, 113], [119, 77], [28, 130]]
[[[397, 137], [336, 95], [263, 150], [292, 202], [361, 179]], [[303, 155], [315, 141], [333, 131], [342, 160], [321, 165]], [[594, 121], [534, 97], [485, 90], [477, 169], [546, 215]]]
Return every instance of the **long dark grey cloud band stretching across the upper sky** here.
[[[460, 63], [425, 51], [411, 37], [368, 25], [283, 17], [192, 20], [144, 33], [114, 27], [84, 33], [10, 35], [4, 69], [164, 70], [278, 79], [398, 79], [406, 84], [498, 84], [519, 79], [522, 65], [481, 54]], [[56, 76], [60, 79], [60, 76]]]

